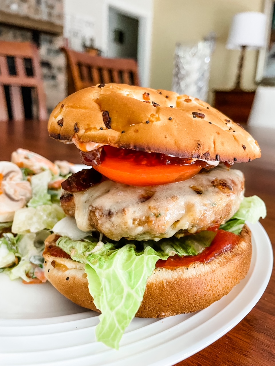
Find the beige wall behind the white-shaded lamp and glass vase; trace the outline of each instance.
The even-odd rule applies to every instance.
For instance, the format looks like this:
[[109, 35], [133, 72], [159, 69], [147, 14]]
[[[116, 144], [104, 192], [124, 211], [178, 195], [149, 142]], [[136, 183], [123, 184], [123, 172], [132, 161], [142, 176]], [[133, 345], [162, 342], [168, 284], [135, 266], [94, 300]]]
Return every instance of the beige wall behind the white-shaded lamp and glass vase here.
[[[239, 55], [238, 51], [225, 49], [232, 17], [242, 11], [261, 10], [262, 0], [154, 0], [151, 87], [171, 88], [176, 42], [197, 42], [214, 31], [217, 45], [212, 57], [209, 89], [231, 88]], [[247, 51], [244, 89], [255, 87], [256, 61], [257, 52]]]

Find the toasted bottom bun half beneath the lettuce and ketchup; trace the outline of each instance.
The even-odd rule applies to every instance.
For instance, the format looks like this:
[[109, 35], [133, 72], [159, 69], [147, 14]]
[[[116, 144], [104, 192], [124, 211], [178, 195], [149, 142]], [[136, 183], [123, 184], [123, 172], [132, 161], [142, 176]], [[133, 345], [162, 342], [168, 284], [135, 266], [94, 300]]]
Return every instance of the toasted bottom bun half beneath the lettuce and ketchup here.
[[[47, 251], [47, 246], [55, 244], [57, 238], [51, 235], [45, 242], [45, 276], [74, 303], [99, 311], [89, 294], [84, 264], [53, 257]], [[188, 268], [156, 268], [147, 280], [136, 317], [161, 318], [204, 309], [227, 295], [246, 276], [251, 255], [251, 232], [245, 225], [240, 242], [209, 263], [194, 262]]]

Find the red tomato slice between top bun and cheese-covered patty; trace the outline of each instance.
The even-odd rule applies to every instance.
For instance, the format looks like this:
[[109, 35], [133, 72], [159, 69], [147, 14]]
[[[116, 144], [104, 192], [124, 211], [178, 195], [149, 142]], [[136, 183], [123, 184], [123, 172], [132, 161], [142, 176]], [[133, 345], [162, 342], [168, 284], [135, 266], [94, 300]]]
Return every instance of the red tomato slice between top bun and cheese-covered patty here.
[[[168, 159], [164, 163], [164, 159], [160, 155], [163, 154], [107, 146], [104, 147], [101, 164], [93, 165], [93, 167], [107, 178], [131, 186], [155, 186], [181, 182], [194, 177], [202, 168], [200, 165], [190, 164], [190, 159], [181, 159], [184, 161], [182, 165], [167, 163]], [[173, 160], [173, 158], [169, 158], [169, 160]]]

